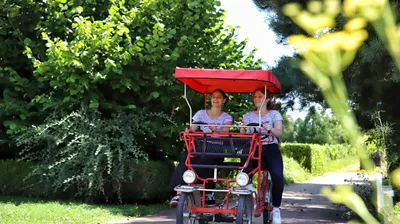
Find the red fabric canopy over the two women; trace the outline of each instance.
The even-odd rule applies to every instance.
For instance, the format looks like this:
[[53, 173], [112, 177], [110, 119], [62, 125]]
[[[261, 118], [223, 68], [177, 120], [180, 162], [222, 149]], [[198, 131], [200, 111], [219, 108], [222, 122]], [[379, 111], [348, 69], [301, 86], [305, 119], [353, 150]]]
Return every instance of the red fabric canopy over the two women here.
[[175, 78], [199, 93], [211, 93], [222, 89], [227, 93], [252, 93], [257, 88], [276, 94], [281, 85], [267, 70], [222, 70], [176, 68]]

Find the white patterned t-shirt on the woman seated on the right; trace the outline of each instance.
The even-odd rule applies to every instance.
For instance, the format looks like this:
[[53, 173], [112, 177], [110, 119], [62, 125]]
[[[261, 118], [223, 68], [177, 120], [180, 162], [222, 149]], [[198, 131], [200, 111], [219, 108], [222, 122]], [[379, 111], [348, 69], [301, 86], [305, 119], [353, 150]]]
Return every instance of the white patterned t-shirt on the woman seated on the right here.
[[[276, 121], [283, 121], [282, 115], [276, 111], [276, 110], [270, 110], [268, 113], [265, 115], [261, 116], [261, 126], [264, 124], [269, 123], [271, 128], [274, 127]], [[242, 122], [244, 123], [257, 123], [258, 124], [258, 113], [257, 111], [249, 111], [247, 112], [242, 119]], [[258, 128], [257, 128], [258, 129]], [[250, 128], [250, 131], [253, 132], [254, 128]], [[262, 134], [267, 134], [268, 131], [264, 128], [261, 128], [261, 133]], [[276, 137], [269, 136], [268, 138], [264, 139], [267, 142], [263, 142], [263, 145], [265, 144], [278, 144], [278, 139]]]

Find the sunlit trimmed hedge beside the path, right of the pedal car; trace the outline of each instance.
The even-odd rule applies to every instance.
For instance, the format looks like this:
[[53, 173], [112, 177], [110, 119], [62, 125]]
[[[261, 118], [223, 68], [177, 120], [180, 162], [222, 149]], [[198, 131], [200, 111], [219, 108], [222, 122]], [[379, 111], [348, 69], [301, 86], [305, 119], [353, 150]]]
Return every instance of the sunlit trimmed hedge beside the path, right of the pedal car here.
[[355, 155], [354, 149], [348, 145], [284, 143], [281, 145], [281, 151], [284, 155], [298, 161], [313, 175], [322, 174], [324, 164], [329, 161]]

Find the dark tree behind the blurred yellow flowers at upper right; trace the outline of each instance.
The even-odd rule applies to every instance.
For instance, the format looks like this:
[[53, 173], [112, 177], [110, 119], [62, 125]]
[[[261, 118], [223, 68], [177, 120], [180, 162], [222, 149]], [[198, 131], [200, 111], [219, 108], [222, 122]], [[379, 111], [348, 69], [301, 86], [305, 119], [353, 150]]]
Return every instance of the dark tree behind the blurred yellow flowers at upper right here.
[[[311, 7], [308, 5], [310, 1], [253, 0], [253, 2], [260, 10], [264, 10], [270, 15], [269, 25], [277, 33], [280, 43], [285, 44], [289, 35], [305, 32], [284, 16], [281, 9], [289, 2], [298, 2], [302, 7]], [[393, 11], [400, 11], [399, 1], [393, 0], [390, 3]], [[332, 31], [341, 30], [344, 22], [345, 18], [339, 15], [336, 18], [337, 27]], [[389, 122], [393, 124], [395, 130], [399, 130], [400, 117], [397, 114], [400, 112], [400, 107], [393, 106], [397, 104], [397, 96], [400, 94], [399, 72], [385, 48], [385, 43], [378, 38], [371, 26], [367, 27], [367, 31], [368, 40], [364, 42], [354, 62], [343, 73], [351, 106], [362, 128], [373, 128], [371, 115], [376, 111], [385, 111], [385, 115], [382, 117], [383, 122]], [[305, 79], [305, 76], [296, 67], [297, 61], [297, 56], [282, 58], [274, 70], [274, 73], [282, 80], [282, 85], [289, 87], [285, 89], [285, 94], [289, 97], [298, 97], [303, 104], [314, 101], [325, 105], [318, 88]], [[400, 143], [398, 135], [393, 135], [392, 138], [395, 145]], [[395, 147], [392, 147], [388, 153], [398, 154], [394, 149]], [[392, 158], [398, 158], [398, 156]], [[393, 162], [393, 167], [400, 163], [398, 160]]]

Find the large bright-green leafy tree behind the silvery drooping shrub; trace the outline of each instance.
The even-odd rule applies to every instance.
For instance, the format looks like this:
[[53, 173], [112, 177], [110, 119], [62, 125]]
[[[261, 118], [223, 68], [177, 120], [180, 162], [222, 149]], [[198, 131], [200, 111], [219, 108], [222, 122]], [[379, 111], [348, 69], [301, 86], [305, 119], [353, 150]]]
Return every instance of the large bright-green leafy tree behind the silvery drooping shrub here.
[[[55, 111], [82, 105], [109, 118], [118, 111], [170, 114], [184, 125], [188, 111], [175, 67], [259, 69], [244, 54], [213, 0], [10, 1], [0, 3], [0, 132], [6, 150], [19, 129]], [[190, 97], [195, 94], [190, 93]], [[194, 100], [201, 105], [200, 99]], [[159, 124], [151, 121], [154, 126]], [[174, 158], [183, 127], [147, 141], [150, 158]], [[8, 133], [8, 134], [6, 134]]]

